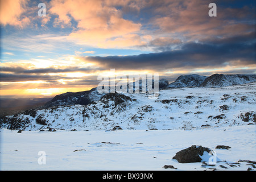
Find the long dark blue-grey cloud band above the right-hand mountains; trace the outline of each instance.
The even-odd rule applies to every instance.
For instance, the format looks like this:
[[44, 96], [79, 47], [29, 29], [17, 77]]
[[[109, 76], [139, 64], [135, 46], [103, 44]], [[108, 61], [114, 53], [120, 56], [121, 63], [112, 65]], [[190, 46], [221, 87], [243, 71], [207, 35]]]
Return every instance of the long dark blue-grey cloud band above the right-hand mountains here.
[[[173, 51], [148, 53], [134, 56], [90, 56], [86, 60], [110, 69], [152, 69], [164, 71], [175, 68], [221, 67], [240, 60], [237, 65], [256, 64], [255, 32], [233, 38], [190, 42]], [[234, 63], [233, 63], [234, 64]]]

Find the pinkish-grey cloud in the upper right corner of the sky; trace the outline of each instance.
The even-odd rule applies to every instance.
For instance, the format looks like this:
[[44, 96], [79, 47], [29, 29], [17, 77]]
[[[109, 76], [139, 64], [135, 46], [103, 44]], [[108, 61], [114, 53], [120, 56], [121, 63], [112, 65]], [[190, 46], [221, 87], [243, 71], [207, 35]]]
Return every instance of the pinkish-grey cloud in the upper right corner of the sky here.
[[[217, 17], [209, 17], [210, 2], [169, 1], [155, 8], [158, 16], [152, 18], [151, 23], [158, 26], [162, 34], [182, 35], [187, 40], [237, 36], [255, 30], [255, 6], [228, 7], [223, 6], [223, 1], [215, 1]], [[229, 2], [229, 5], [237, 3], [240, 2]]]

